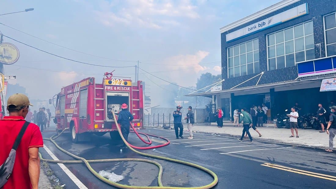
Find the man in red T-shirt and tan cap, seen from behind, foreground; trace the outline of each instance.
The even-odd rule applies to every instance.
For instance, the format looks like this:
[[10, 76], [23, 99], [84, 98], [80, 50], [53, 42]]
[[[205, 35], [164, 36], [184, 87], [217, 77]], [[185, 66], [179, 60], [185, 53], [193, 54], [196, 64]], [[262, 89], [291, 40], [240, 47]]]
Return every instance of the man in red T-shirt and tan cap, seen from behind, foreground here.
[[[8, 98], [9, 116], [0, 120], [0, 164], [4, 163], [14, 141], [25, 123], [25, 118], [32, 106], [27, 96], [14, 94]], [[16, 150], [13, 172], [1, 189], [32, 188], [38, 189], [40, 177], [39, 147], [43, 147], [43, 139], [37, 125], [30, 123]]]

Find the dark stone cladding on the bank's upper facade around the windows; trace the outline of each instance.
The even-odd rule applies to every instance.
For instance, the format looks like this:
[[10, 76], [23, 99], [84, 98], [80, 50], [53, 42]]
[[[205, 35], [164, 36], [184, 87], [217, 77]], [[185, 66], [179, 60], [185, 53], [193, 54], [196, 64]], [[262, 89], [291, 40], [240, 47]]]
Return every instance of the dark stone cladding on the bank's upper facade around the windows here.
[[[265, 18], [279, 14], [280, 12], [291, 9], [303, 3], [308, 3], [308, 14], [307, 15], [304, 15], [294, 20], [285, 22], [281, 25], [257, 32], [250, 36], [246, 36], [242, 39], [238, 39], [238, 40], [226, 43], [225, 35], [227, 33], [239, 30], [253, 23], [257, 23], [261, 20], [264, 20]], [[326, 54], [325, 54], [325, 42], [324, 42], [323, 15], [334, 12], [334, 11], [336, 11], [336, 0], [301, 0], [291, 5], [288, 5], [287, 7], [284, 7], [282, 9], [276, 10], [275, 12], [272, 12], [265, 16], [257, 18], [256, 20], [253, 20], [235, 29], [229, 30], [228, 32], [222, 33], [221, 34], [222, 79], [225, 79], [225, 81], [223, 82], [223, 86], [222, 86], [223, 90], [230, 89], [258, 74], [258, 73], [255, 73], [255, 74], [250, 74], [250, 75], [245, 75], [245, 76], [240, 76], [240, 77], [227, 78], [227, 50], [226, 50], [227, 47], [231, 47], [239, 43], [243, 43], [243, 42], [249, 41], [251, 39], [256, 39], [256, 38], [259, 39], [260, 72], [262, 71], [264, 72], [263, 76], [261, 77], [259, 81], [259, 84], [276, 83], [276, 82], [290, 81], [290, 80], [296, 79], [298, 76], [297, 66], [267, 71], [267, 50], [266, 50], [267, 34], [276, 32], [278, 30], [281, 30], [281, 29], [284, 29], [284, 28], [287, 28], [287, 27], [290, 27], [296, 24], [300, 24], [305, 21], [312, 20], [313, 27], [314, 27], [315, 58], [325, 57]], [[250, 81], [243, 83], [242, 85], [239, 85], [237, 88], [254, 86], [256, 82], [258, 81], [258, 79], [259, 79], [259, 76], [251, 79]]]

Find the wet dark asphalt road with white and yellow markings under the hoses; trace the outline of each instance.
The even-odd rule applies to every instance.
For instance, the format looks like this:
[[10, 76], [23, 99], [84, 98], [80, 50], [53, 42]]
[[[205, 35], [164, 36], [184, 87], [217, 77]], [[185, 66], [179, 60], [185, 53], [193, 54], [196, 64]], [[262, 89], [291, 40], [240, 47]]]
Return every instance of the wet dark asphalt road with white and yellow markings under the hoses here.
[[[291, 145], [267, 142], [248, 143], [235, 138], [213, 136], [195, 133], [194, 139], [175, 139], [173, 130], [146, 128], [145, 133], [163, 136], [171, 144], [153, 150], [141, 150], [144, 153], [155, 154], [174, 159], [184, 160], [209, 168], [218, 176], [218, 184], [222, 188], [334, 188], [336, 184], [336, 156], [321, 149], [296, 147]], [[252, 130], [253, 132], [253, 130]], [[44, 132], [48, 138], [54, 132]], [[71, 142], [71, 135], [65, 132], [56, 139], [59, 146], [65, 150], [86, 159], [110, 158], [145, 158], [159, 162], [163, 167], [164, 186], [194, 187], [212, 182], [207, 173], [186, 165], [143, 157], [130, 150], [120, 152], [121, 144], [111, 141], [109, 134], [102, 137], [87, 136], [86, 141], [79, 144]], [[151, 138], [152, 139], [152, 138]], [[154, 138], [156, 141], [161, 139]], [[255, 139], [257, 140], [257, 139]], [[44, 141], [50, 151], [60, 160], [73, 160], [72, 157], [59, 151], [51, 142]], [[145, 147], [135, 134], [130, 133], [129, 143]], [[162, 143], [153, 141], [153, 145]], [[51, 156], [41, 148], [44, 158]], [[94, 177], [84, 164], [65, 164], [66, 167], [87, 188], [113, 188]], [[101, 170], [123, 175], [120, 184], [130, 186], [158, 186], [158, 168], [144, 162], [109, 162], [92, 163], [95, 171]], [[51, 169], [67, 188], [78, 188], [57, 164], [51, 164]], [[322, 175], [323, 174], [323, 175]]]

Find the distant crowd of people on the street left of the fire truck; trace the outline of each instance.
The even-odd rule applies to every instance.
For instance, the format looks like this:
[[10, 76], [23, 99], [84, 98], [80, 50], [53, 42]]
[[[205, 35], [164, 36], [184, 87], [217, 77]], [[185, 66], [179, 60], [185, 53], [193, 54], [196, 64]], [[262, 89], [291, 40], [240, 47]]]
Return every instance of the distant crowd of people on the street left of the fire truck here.
[[51, 120], [51, 112], [50, 109], [46, 109], [45, 107], [39, 108], [39, 112], [34, 110], [34, 113], [29, 111], [26, 116], [26, 121], [35, 123], [37, 126], [40, 127], [41, 133], [43, 133], [44, 129], [50, 126]]

